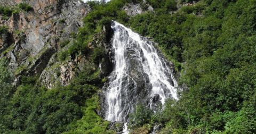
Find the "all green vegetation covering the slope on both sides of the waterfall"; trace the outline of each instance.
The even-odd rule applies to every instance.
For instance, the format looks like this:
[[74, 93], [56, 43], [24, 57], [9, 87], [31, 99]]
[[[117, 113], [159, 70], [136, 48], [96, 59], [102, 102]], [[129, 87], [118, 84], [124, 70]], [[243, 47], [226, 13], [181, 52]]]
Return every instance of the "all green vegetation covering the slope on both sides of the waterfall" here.
[[184, 87], [179, 101], [168, 100], [156, 113], [138, 105], [130, 115], [133, 132], [148, 133], [159, 124], [159, 133], [256, 133], [256, 1], [202, 0], [174, 13], [176, 1], [148, 0], [154, 12], [133, 17], [121, 10], [126, 2], [142, 1], [89, 2], [85, 26], [59, 54], [61, 61], [65, 55], [89, 59], [67, 87], [48, 90], [23, 76], [14, 89], [6, 60], [0, 60], [0, 133], [114, 133], [95, 112], [106, 81], [98, 64], [106, 52], [89, 46], [111, 20], [152, 37], [181, 72]]

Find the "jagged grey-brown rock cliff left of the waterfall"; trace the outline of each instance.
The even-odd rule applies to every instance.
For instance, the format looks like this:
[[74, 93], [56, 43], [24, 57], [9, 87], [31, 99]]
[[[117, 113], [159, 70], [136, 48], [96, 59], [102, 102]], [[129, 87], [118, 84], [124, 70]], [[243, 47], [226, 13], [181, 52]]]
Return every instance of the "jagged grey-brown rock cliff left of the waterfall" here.
[[[12, 7], [20, 2], [31, 5], [33, 11], [14, 13], [7, 20], [0, 15], [0, 24], [9, 27], [10, 33], [8, 36], [2, 35], [0, 39], [0, 57], [9, 59], [16, 82], [19, 82], [21, 75], [40, 76], [46, 87], [52, 87], [57, 82], [52, 83], [52, 80], [60, 75], [60, 84], [68, 85], [74, 77], [74, 68], [79, 68], [77, 66], [81, 66], [85, 60], [76, 57], [75, 61], [55, 63], [52, 60], [54, 63], [51, 64], [49, 61], [61, 51], [59, 44], [64, 40], [72, 40], [70, 35], [83, 26], [82, 20], [90, 7], [76, 0], [0, 0], [0, 4]], [[56, 76], [51, 71], [47, 72], [50, 68], [61, 68], [60, 73]]]

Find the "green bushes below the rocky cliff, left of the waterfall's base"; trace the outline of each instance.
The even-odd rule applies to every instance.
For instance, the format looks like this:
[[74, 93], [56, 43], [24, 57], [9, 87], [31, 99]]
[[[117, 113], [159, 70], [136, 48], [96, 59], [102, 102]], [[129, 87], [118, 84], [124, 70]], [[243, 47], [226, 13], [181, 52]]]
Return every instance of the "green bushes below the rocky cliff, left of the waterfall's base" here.
[[[1, 66], [3, 65], [1, 64]], [[4, 118], [0, 119], [0, 127], [3, 128], [0, 129], [0, 132], [60, 133], [78, 131], [79, 127], [84, 127], [80, 125], [81, 122], [87, 122], [90, 125], [87, 128], [88, 131], [104, 132], [108, 122], [103, 121], [95, 113], [95, 109], [98, 109], [99, 105], [98, 98], [94, 95], [103, 83], [97, 76], [98, 71], [94, 71], [93, 68], [95, 68], [93, 65], [88, 65], [85, 71], [79, 73], [79, 76], [69, 86], [51, 90], [35, 86], [37, 78], [23, 76], [21, 85], [15, 90], [15, 93], [6, 91], [5, 94], [1, 94], [11, 97], [5, 100], [6, 103], [9, 103], [4, 106], [6, 111], [1, 112], [1, 117]], [[7, 73], [7, 71], [3, 73]], [[1, 73], [1, 76], [5, 76], [3, 80], [6, 82], [11, 81], [9, 77], [9, 79], [6, 78], [5, 74]], [[7, 88], [5, 89], [7, 90]], [[92, 97], [93, 95], [94, 97]], [[92, 121], [100, 126], [102, 124], [105, 129], [99, 130], [99, 127], [92, 124]]]

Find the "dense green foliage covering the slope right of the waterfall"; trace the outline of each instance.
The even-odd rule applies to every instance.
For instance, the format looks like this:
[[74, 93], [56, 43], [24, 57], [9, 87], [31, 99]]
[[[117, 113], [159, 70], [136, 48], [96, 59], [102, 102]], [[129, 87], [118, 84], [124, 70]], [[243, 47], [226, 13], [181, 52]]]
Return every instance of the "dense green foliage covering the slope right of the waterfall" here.
[[156, 7], [130, 26], [183, 66], [186, 86], [166, 104], [163, 133], [255, 133], [256, 1], [204, 0], [172, 15]]

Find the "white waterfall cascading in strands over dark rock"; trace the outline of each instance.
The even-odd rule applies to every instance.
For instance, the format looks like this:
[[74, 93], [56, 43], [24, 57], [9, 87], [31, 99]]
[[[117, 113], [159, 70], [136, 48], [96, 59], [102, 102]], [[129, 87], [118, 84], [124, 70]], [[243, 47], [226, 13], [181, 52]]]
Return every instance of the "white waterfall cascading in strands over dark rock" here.
[[127, 122], [137, 103], [154, 109], [166, 98], [178, 99], [177, 82], [154, 43], [118, 22], [113, 22], [111, 28], [115, 68], [103, 87], [106, 120]]

